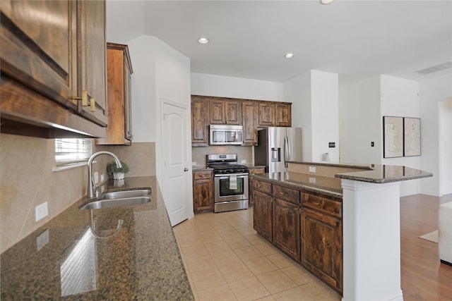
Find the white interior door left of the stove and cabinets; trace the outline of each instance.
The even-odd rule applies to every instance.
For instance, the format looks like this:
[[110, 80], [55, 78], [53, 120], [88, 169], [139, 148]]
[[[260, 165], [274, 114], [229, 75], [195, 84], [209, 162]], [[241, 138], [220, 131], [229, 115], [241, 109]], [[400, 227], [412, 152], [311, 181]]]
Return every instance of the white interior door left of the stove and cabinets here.
[[189, 218], [186, 108], [162, 102], [162, 193], [174, 226]]

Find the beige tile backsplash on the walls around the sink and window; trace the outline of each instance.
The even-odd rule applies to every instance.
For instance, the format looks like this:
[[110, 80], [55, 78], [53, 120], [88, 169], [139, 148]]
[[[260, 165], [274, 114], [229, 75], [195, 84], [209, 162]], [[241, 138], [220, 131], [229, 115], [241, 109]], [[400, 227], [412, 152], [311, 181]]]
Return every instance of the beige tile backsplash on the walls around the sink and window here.
[[[155, 176], [155, 142], [94, 146], [125, 161], [133, 176]], [[106, 173], [109, 156], [98, 156], [93, 172]], [[86, 195], [88, 168], [52, 171], [54, 140], [0, 134], [0, 253]], [[107, 177], [106, 177], [107, 178]], [[35, 221], [35, 207], [47, 202], [49, 215]]]

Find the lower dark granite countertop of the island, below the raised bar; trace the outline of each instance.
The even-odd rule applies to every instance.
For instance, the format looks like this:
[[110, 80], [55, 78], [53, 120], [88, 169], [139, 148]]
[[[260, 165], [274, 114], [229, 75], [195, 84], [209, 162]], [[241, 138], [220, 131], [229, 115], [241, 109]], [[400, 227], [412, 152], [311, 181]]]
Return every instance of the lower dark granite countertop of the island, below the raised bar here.
[[305, 173], [261, 173], [253, 175], [254, 178], [267, 180], [278, 185], [302, 189], [307, 192], [320, 193], [342, 199], [342, 187], [340, 179], [322, 176], [308, 175]]

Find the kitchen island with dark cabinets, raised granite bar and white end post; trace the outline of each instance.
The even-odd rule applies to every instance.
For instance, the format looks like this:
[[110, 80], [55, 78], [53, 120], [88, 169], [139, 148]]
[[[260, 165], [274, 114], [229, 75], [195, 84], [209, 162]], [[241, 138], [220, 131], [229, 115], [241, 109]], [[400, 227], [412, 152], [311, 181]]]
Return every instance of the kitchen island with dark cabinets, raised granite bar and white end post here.
[[405, 166], [290, 162], [254, 176], [254, 228], [343, 300], [403, 300], [400, 181]]

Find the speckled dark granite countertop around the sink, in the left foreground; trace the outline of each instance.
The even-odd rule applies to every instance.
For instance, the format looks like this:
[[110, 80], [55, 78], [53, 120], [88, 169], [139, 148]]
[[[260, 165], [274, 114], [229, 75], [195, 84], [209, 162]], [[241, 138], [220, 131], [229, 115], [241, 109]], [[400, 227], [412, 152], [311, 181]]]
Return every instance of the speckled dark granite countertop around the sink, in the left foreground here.
[[155, 176], [107, 184], [138, 187], [150, 203], [81, 210], [83, 197], [2, 253], [1, 300], [194, 300]]

